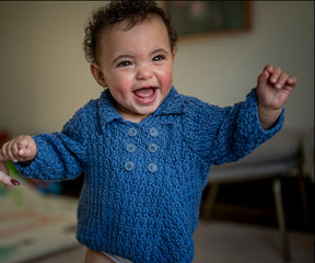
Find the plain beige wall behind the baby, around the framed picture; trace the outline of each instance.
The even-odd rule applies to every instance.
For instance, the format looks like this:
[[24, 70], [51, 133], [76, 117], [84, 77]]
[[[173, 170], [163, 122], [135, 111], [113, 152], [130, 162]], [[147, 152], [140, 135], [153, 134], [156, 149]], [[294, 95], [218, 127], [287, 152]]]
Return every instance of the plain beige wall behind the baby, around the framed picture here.
[[[102, 2], [0, 2], [0, 129], [54, 132], [102, 92], [82, 49]], [[314, 2], [254, 1], [253, 28], [179, 41], [174, 84], [221, 106], [244, 100], [266, 64], [299, 79], [285, 126], [314, 127]]]

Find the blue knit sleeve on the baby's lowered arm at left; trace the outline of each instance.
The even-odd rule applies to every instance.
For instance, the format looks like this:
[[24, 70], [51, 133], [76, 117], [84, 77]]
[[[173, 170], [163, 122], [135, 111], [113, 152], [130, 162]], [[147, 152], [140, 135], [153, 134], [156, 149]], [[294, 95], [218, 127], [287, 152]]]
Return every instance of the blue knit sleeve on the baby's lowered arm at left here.
[[33, 136], [37, 155], [31, 164], [16, 163], [21, 175], [45, 181], [62, 181], [82, 173], [85, 138], [89, 134], [86, 108], [82, 107], [60, 133]]

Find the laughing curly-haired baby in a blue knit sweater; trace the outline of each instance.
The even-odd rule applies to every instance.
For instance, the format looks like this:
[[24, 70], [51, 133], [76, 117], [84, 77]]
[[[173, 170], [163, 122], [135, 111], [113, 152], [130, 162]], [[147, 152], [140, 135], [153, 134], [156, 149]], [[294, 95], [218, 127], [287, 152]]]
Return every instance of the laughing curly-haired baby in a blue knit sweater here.
[[0, 152], [46, 181], [84, 173], [78, 240], [85, 262], [194, 260], [192, 235], [212, 164], [237, 161], [280, 130], [296, 85], [266, 66], [244, 102], [219, 107], [173, 87], [176, 33], [154, 1], [112, 1], [85, 30], [91, 72], [106, 88], [62, 132], [19, 136]]

